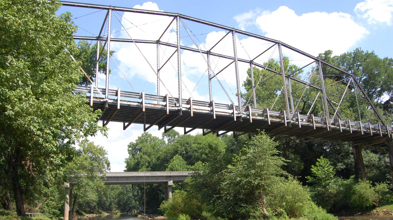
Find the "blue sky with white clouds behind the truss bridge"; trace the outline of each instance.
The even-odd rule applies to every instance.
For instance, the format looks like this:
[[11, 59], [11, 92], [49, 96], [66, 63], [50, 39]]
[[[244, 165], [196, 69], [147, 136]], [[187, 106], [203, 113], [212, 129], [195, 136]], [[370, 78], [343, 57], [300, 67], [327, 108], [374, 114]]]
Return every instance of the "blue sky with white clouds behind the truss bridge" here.
[[[361, 47], [364, 51], [375, 51], [380, 58], [393, 56], [393, 43], [391, 42], [393, 0], [228, 0], [225, 2], [207, 0], [156, 0], [153, 2], [79, 0], [77, 2], [179, 13], [280, 40], [313, 56], [328, 49], [333, 51], [333, 55], [340, 55], [357, 47]], [[75, 35], [83, 36], [96, 36], [106, 13], [106, 11], [97, 9], [62, 6], [58, 14], [66, 11], [72, 13], [73, 22], [79, 27]], [[163, 16], [112, 13], [111, 35], [116, 38], [132, 37], [133, 39], [157, 40], [163, 34], [162, 41], [176, 44], [176, 23], [171, 24], [171, 20], [172, 18]], [[168, 25], [169, 28], [165, 31]], [[226, 34], [217, 28], [186, 20], [180, 26], [181, 44], [204, 50], [212, 47]], [[105, 28], [107, 28], [107, 24]], [[103, 35], [106, 35], [107, 32], [106, 29]], [[189, 34], [193, 37], [191, 38]], [[262, 49], [272, 45], [269, 42], [244, 35], [238, 35], [236, 40], [238, 56], [246, 60], [250, 60], [249, 57], [258, 55]], [[157, 66], [156, 45], [112, 42], [110, 47], [111, 50], [116, 51], [110, 61], [112, 70], [109, 80], [110, 89], [120, 87], [121, 91], [134, 91], [135, 89], [137, 92], [143, 90], [147, 94], [156, 95], [157, 78], [152, 70], [156, 71]], [[217, 53], [233, 56], [232, 37], [229, 35], [224, 38], [214, 50]], [[270, 51], [260, 56], [256, 61], [262, 64], [269, 58], [278, 59], [278, 51], [274, 48]], [[160, 63], [163, 64], [173, 52], [173, 48], [160, 47]], [[189, 51], [181, 53], [183, 98], [192, 97], [194, 100], [209, 101], [206, 56]], [[289, 56], [291, 62], [298, 66], [310, 62], [304, 56], [288, 49], [283, 49], [283, 54]], [[230, 61], [212, 57], [211, 63], [213, 72], [217, 73]], [[239, 64], [241, 84], [246, 79], [247, 69], [248, 65]], [[222, 87], [218, 80], [212, 81], [215, 102], [236, 103], [237, 99], [234, 96], [236, 80], [233, 72], [233, 67], [230, 66], [217, 77], [223, 84]], [[176, 55], [170, 58], [169, 62], [161, 69], [160, 76], [162, 78], [160, 95], [170, 93], [174, 97], [178, 97]], [[104, 74], [99, 75], [98, 84], [99, 87], [105, 87]], [[228, 96], [230, 97], [228, 98]], [[132, 124], [123, 131], [122, 124], [110, 122], [108, 137], [96, 135], [89, 138], [95, 144], [105, 147], [112, 172], [121, 172], [125, 169], [124, 160], [128, 157], [127, 145], [143, 133], [142, 126]], [[182, 129], [178, 129], [178, 131], [182, 133]], [[161, 137], [163, 131], [158, 131], [154, 126], [149, 129], [149, 132], [154, 136]]]

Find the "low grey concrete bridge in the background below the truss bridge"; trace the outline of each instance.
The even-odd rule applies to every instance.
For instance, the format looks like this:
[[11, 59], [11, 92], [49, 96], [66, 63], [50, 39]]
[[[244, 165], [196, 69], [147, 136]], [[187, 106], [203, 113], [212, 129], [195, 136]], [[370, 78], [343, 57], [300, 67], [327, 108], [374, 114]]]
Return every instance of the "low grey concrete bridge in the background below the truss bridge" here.
[[[153, 171], [153, 172], [113, 172], [99, 173], [105, 185], [126, 184], [164, 184], [165, 200], [172, 198], [173, 183], [184, 182], [193, 171]], [[64, 183], [66, 200], [64, 202], [64, 220], [72, 220], [72, 189], [76, 182]]]

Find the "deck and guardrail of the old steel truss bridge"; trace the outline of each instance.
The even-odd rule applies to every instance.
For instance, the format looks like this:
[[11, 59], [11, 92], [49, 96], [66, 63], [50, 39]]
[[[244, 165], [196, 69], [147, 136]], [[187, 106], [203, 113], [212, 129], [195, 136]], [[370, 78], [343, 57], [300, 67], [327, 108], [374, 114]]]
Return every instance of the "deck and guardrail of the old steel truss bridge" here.
[[[78, 86], [75, 91], [91, 93], [90, 87]], [[104, 92], [105, 89], [99, 89]], [[95, 94], [93, 92], [93, 94]], [[123, 129], [130, 123], [144, 124], [145, 130], [158, 125], [158, 129], [165, 131], [173, 127], [184, 127], [185, 133], [199, 128], [208, 129], [208, 133], [223, 135], [235, 132], [235, 136], [257, 133], [264, 130], [270, 136], [284, 136], [301, 138], [316, 138], [332, 142], [372, 142], [381, 144], [391, 136], [391, 127], [371, 125], [370, 123], [351, 122], [350, 120], [336, 120], [331, 126], [323, 117], [301, 115], [295, 113], [291, 120], [286, 119], [285, 113], [269, 109], [246, 108], [239, 114], [233, 105], [215, 104], [183, 99], [182, 107], [176, 105], [177, 98], [158, 95], [145, 95], [109, 89], [108, 100], [98, 96], [90, 96], [90, 105], [101, 109], [103, 115], [99, 120], [104, 124], [110, 121], [123, 122]], [[158, 104], [159, 103], [159, 104]], [[328, 129], [329, 127], [329, 129]]]

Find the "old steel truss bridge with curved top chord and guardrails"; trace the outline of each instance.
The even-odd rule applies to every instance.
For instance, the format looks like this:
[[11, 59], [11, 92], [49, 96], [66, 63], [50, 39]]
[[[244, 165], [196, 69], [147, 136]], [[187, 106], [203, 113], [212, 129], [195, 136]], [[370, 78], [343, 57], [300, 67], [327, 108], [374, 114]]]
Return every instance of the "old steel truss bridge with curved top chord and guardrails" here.
[[[152, 72], [157, 76], [157, 95], [145, 94], [145, 92], [130, 92], [121, 91], [118, 89], [109, 88], [109, 62], [107, 59], [107, 73], [106, 73], [106, 86], [105, 88], [99, 88], [97, 81], [91, 86], [78, 86], [75, 92], [90, 94], [87, 95], [90, 99], [90, 106], [97, 110], [103, 111], [102, 116], [99, 118], [103, 122], [103, 125], [107, 125], [109, 122], [122, 122], [123, 129], [127, 129], [131, 124], [143, 124], [144, 131], [147, 131], [154, 125], [158, 126], [158, 129], [164, 129], [165, 132], [170, 131], [174, 127], [184, 127], [184, 134], [187, 134], [195, 129], [202, 129], [203, 135], [209, 133], [216, 134], [217, 136], [224, 135], [229, 132], [233, 132], [233, 135], [251, 135], [252, 133], [258, 133], [259, 130], [264, 130], [270, 136], [279, 136], [279, 139], [290, 138], [292, 140], [300, 140], [303, 138], [310, 138], [309, 140], [328, 140], [330, 142], [352, 142], [353, 145], [378, 145], [384, 144], [387, 140], [391, 140], [392, 127], [387, 125], [376, 107], [374, 106], [371, 99], [367, 96], [366, 92], [362, 88], [358, 79], [351, 73], [340, 69], [332, 64], [329, 64], [315, 56], [305, 53], [299, 49], [296, 49], [288, 44], [280, 42], [278, 40], [266, 38], [264, 36], [255, 35], [246, 31], [226, 27], [224, 25], [215, 24], [205, 20], [200, 20], [190, 16], [180, 15], [177, 13], [167, 13], [162, 11], [148, 11], [142, 9], [132, 9], [124, 7], [114, 7], [107, 5], [94, 5], [94, 4], [83, 4], [75, 2], [61, 2], [64, 6], [82, 7], [86, 9], [86, 14], [92, 10], [104, 10], [107, 11], [103, 18], [103, 24], [96, 36], [74, 36], [75, 40], [92, 40], [100, 42], [103, 46], [101, 51], [97, 48], [97, 60], [103, 54], [104, 48], [106, 48], [107, 57], [110, 56], [110, 45], [111, 42], [125, 42], [135, 45], [138, 49], [138, 45], [141, 44], [153, 44], [157, 45], [157, 60], [154, 60], [154, 65], [150, 65]], [[90, 11], [89, 11], [90, 10]], [[132, 32], [128, 32], [127, 28], [122, 25], [123, 31], [126, 31], [129, 38], [115, 38], [111, 36], [113, 30], [111, 30], [111, 24], [113, 15], [116, 16], [120, 22], [118, 15], [119, 13], [137, 13], [145, 15], [162, 16], [163, 18], [170, 18], [171, 22], [168, 23], [166, 28], [163, 28], [162, 32], [158, 35], [159, 37], [154, 40], [147, 39], [136, 39], [132, 37]], [[225, 35], [218, 40], [215, 44], [209, 48], [201, 48], [195, 43], [193, 37], [187, 25], [184, 22], [198, 23], [198, 25], [204, 25], [209, 28], [215, 28], [219, 31], [225, 31]], [[187, 46], [182, 44], [180, 41], [180, 25], [183, 25], [185, 33], [194, 42], [193, 46]], [[168, 32], [171, 25], [176, 25], [176, 43], [165, 42], [163, 36]], [[107, 34], [105, 35], [107, 27]], [[136, 26], [135, 26], [136, 27]], [[157, 30], [156, 30], [157, 31]], [[162, 34], [161, 34], [162, 33]], [[257, 49], [256, 53], [239, 53], [239, 48], [242, 47], [241, 38], [248, 38], [255, 41], [263, 42], [255, 45], [255, 47], [261, 46]], [[230, 39], [231, 41], [231, 53], [217, 53], [212, 50], [218, 45], [222, 44], [224, 39]], [[97, 44], [99, 45], [99, 44]], [[106, 47], [105, 47], [106, 46]], [[170, 56], [167, 60], [160, 60], [159, 53], [161, 47], [172, 48]], [[279, 65], [282, 71], [270, 68], [266, 65], [258, 62], [258, 59], [267, 56], [268, 53], [276, 53], [275, 48], [278, 49]], [[182, 94], [182, 73], [181, 73], [181, 57], [182, 51], [189, 51], [192, 53], [200, 54], [206, 62], [206, 71], [208, 73], [208, 80], [206, 82], [209, 85], [209, 100], [193, 100], [193, 98], [183, 98]], [[139, 49], [141, 56], [143, 51]], [[135, 53], [139, 53], [136, 51]], [[173, 52], [173, 53], [172, 53]], [[286, 72], [284, 68], [284, 53], [286, 55], [302, 56], [309, 60], [307, 65], [299, 68], [296, 71]], [[247, 54], [245, 56], [244, 54]], [[251, 54], [252, 57], [249, 55]], [[176, 59], [176, 56], [177, 59]], [[222, 58], [227, 60], [228, 65], [221, 67], [219, 70], [213, 68], [212, 58]], [[173, 95], [161, 95], [160, 86], [162, 90], [163, 81], [160, 78], [160, 71], [169, 60], [176, 60], [177, 70], [176, 74], [178, 77], [178, 94]], [[145, 58], [147, 62], [149, 60]], [[267, 59], [265, 59], [267, 60]], [[248, 65], [250, 68], [252, 89], [253, 93], [250, 96], [253, 105], [249, 102], [244, 104], [242, 102], [245, 98], [242, 97], [241, 93], [241, 79], [239, 77], [239, 65]], [[153, 68], [152, 66], [157, 66]], [[230, 67], [230, 68], [229, 68]], [[273, 75], [269, 78], [261, 78], [254, 81], [254, 69], [259, 68], [261, 71], [268, 71]], [[309, 68], [309, 75], [307, 77], [300, 76], [302, 70]], [[343, 87], [338, 88], [340, 94], [332, 94], [329, 92], [328, 87], [333, 86], [332, 84], [326, 85], [327, 76], [324, 75], [323, 69], [330, 69], [343, 75], [343, 80], [340, 85]], [[212, 94], [212, 84], [214, 78], [217, 80], [216, 85], [222, 84], [218, 79], [222, 76], [225, 71], [230, 71], [231, 77], [236, 78], [236, 101], [232, 101], [230, 96], [230, 104], [217, 103], [213, 100], [214, 94]], [[96, 69], [96, 79], [98, 79], [98, 64]], [[161, 76], [163, 77], [163, 76]], [[222, 76], [224, 77], [224, 76]], [[228, 77], [228, 76], [226, 76]], [[261, 76], [262, 77], [262, 76]], [[259, 109], [257, 108], [257, 97], [255, 96], [255, 88], [258, 85], [267, 83], [268, 80], [274, 78], [279, 79], [282, 82], [283, 88], [276, 94], [284, 97], [285, 108], [284, 109]], [[334, 83], [334, 84], [336, 84]], [[294, 85], [299, 85], [300, 89], [294, 91]], [[166, 87], [165, 87], [166, 88]], [[224, 89], [224, 88], [223, 88]], [[297, 109], [303, 94], [307, 90], [313, 90], [318, 93], [316, 97], [313, 97], [313, 104], [322, 106], [320, 115], [312, 114], [301, 114]], [[167, 94], [170, 94], [167, 91]], [[301, 94], [301, 95], [300, 95]], [[371, 109], [378, 119], [378, 123], [362, 122], [362, 118], [359, 113], [359, 118], [343, 118], [340, 114], [340, 107], [344, 102], [346, 96], [356, 96], [356, 101], [361, 100], [367, 103], [369, 109]], [[273, 97], [275, 98], [275, 97]], [[278, 98], [278, 96], [277, 96]], [[248, 101], [250, 101], [250, 99]], [[334, 101], [336, 100], [336, 101]], [[296, 104], [297, 103], [297, 104]], [[296, 106], [296, 107], [295, 107]], [[359, 107], [359, 106], [358, 106]], [[310, 111], [311, 111], [310, 108]], [[310, 113], [309, 111], [309, 113]], [[359, 109], [360, 111], [360, 109]]]

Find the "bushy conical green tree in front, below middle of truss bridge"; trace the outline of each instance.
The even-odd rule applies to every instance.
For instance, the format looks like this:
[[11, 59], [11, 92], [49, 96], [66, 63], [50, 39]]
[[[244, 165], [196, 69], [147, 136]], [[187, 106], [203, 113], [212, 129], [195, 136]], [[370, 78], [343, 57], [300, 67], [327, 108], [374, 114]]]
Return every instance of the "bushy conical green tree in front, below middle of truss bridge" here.
[[281, 169], [285, 164], [268, 135], [254, 136], [248, 146], [235, 157], [222, 173], [217, 209], [229, 218], [259, 218], [268, 213], [266, 198], [272, 188], [288, 175]]

